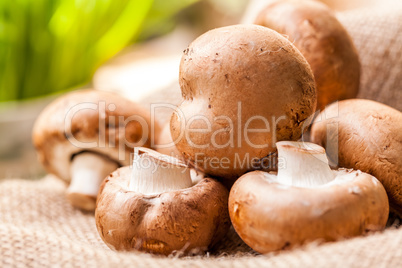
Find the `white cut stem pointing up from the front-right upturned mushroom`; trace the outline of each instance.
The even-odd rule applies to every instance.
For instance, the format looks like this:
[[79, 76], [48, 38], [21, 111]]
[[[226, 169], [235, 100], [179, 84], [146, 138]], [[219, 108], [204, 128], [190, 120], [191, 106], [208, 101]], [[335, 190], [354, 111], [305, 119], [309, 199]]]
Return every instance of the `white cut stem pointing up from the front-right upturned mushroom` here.
[[311, 188], [335, 178], [328, 165], [325, 149], [310, 142], [277, 142], [279, 165], [278, 182], [285, 185]]

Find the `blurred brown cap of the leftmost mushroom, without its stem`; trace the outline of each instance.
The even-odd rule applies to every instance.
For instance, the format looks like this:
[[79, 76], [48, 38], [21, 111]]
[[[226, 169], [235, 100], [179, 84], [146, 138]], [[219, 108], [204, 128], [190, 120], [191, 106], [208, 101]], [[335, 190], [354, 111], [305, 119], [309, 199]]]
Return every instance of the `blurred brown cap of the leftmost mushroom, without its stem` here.
[[[48, 105], [36, 120], [32, 137], [45, 169], [70, 181], [70, 162], [76, 154], [89, 151], [128, 165], [134, 146], [151, 145], [151, 130], [147, 109], [117, 94], [81, 90]], [[159, 131], [159, 126], [153, 130]]]

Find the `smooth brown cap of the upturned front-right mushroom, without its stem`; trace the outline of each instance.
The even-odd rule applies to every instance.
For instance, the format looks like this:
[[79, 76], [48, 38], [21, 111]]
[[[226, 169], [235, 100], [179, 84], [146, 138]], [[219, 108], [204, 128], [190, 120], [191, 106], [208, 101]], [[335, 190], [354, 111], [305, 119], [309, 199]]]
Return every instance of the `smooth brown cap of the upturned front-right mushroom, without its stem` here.
[[229, 196], [236, 232], [250, 247], [267, 253], [383, 229], [388, 199], [381, 183], [360, 171], [334, 172], [334, 181], [315, 188], [282, 185], [263, 171], [243, 175]]

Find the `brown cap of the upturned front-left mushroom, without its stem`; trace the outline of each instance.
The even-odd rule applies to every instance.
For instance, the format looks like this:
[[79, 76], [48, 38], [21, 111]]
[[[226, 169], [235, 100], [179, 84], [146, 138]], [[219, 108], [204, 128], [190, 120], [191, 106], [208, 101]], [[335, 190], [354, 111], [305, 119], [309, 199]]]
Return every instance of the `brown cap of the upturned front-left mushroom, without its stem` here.
[[219, 182], [204, 178], [187, 189], [144, 195], [128, 190], [131, 171], [116, 170], [99, 191], [96, 226], [110, 248], [164, 255], [204, 251], [229, 229], [229, 194]]

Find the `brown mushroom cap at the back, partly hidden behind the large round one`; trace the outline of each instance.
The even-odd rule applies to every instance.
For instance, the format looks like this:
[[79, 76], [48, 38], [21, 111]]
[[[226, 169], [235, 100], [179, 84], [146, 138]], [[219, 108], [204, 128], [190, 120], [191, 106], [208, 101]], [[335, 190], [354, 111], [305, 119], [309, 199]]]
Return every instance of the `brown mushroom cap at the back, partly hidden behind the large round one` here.
[[281, 0], [270, 3], [255, 20], [289, 37], [307, 59], [317, 86], [317, 109], [356, 97], [360, 83], [358, 53], [349, 34], [325, 4]]

